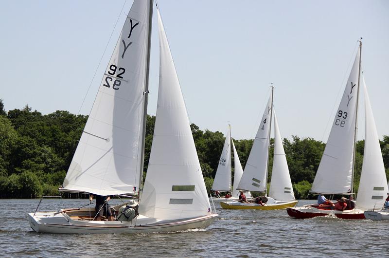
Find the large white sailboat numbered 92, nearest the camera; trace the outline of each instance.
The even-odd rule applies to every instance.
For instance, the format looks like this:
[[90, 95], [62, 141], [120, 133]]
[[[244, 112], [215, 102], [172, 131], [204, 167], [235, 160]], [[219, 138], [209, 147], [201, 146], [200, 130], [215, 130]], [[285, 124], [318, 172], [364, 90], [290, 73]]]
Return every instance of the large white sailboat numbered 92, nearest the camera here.
[[[134, 0], [66, 175], [63, 191], [123, 195], [141, 188], [153, 1]], [[159, 9], [159, 93], [148, 171], [131, 221], [93, 208], [28, 215], [36, 232], [149, 233], [206, 228], [212, 214]], [[141, 190], [141, 189], [140, 189]], [[114, 207], [117, 214], [119, 207]], [[91, 216], [92, 211], [92, 216]]]

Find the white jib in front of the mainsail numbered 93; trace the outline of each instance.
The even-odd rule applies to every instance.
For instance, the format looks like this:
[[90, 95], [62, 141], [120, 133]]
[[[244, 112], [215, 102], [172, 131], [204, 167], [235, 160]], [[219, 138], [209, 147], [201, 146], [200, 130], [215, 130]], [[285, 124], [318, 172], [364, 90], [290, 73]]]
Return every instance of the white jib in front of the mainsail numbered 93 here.
[[365, 95], [365, 149], [363, 152], [363, 164], [358, 196], [356, 198], [356, 207], [361, 210], [381, 209], [388, 193], [388, 181], [386, 179], [380, 142], [363, 75], [361, 83], [363, 84], [362, 88], [364, 89]]

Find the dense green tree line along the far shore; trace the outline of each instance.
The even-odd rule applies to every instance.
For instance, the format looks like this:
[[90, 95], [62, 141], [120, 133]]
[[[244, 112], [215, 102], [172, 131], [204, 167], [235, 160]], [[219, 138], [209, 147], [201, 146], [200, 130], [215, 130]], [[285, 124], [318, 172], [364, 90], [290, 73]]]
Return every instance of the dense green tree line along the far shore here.
[[[58, 195], [74, 151], [88, 119], [68, 111], [42, 115], [26, 105], [6, 112], [0, 99], [0, 198], [36, 198]], [[150, 157], [155, 116], [147, 115], [144, 173]], [[212, 187], [223, 149], [222, 132], [200, 130], [191, 124], [205, 184]], [[245, 167], [253, 140], [233, 140], [242, 167]], [[380, 141], [387, 176], [389, 175], [389, 136]], [[297, 199], [307, 198], [325, 144], [313, 138], [292, 136], [283, 139], [293, 189]], [[273, 164], [274, 140], [270, 142], [269, 178]], [[356, 146], [355, 189], [363, 160], [364, 141]], [[233, 162], [233, 160], [232, 160]], [[233, 163], [232, 163], [233, 164]], [[233, 169], [233, 167], [232, 167]]]

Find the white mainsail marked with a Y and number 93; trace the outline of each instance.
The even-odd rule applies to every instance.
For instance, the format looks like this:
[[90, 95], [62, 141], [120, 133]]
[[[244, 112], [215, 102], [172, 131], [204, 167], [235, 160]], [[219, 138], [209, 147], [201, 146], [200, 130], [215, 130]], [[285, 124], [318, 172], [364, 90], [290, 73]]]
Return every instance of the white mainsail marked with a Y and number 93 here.
[[312, 184], [312, 191], [316, 193], [336, 194], [351, 191], [358, 73], [359, 50]]

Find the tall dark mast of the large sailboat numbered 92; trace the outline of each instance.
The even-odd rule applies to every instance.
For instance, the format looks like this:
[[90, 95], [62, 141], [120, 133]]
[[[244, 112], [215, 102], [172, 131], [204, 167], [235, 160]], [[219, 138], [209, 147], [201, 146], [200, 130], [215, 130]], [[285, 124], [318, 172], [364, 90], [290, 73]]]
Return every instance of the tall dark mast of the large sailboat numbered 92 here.
[[146, 61], [146, 78], [144, 84], [144, 106], [143, 106], [143, 125], [142, 125], [142, 138], [141, 138], [141, 166], [139, 171], [139, 194], [138, 198], [140, 198], [142, 191], [142, 182], [143, 182], [143, 162], [144, 162], [144, 142], [146, 138], [146, 124], [147, 124], [147, 101], [148, 101], [148, 93], [149, 93], [149, 70], [150, 70], [150, 46], [151, 46], [151, 27], [153, 21], [153, 0], [150, 0], [149, 6], [149, 28], [148, 28], [148, 38], [147, 38], [147, 61]]

